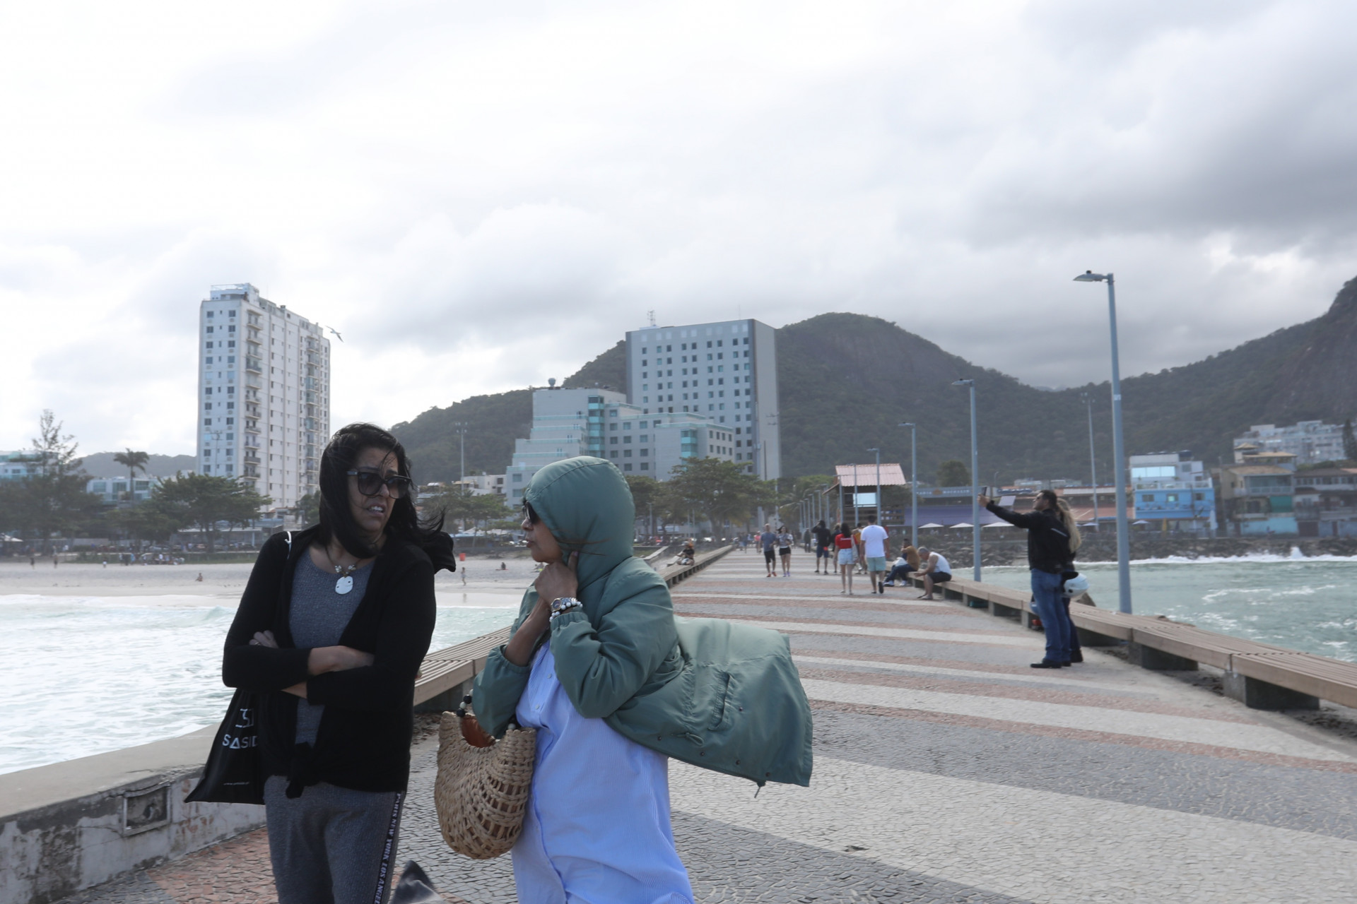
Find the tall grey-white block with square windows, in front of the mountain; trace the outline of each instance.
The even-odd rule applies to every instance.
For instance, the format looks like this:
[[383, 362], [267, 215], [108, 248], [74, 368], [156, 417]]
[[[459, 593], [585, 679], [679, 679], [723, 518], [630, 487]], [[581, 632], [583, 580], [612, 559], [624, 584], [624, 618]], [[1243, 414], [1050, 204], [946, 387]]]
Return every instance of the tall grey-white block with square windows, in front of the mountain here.
[[734, 461], [782, 476], [776, 331], [757, 320], [627, 333], [627, 401], [650, 413], [699, 413], [733, 435]]

